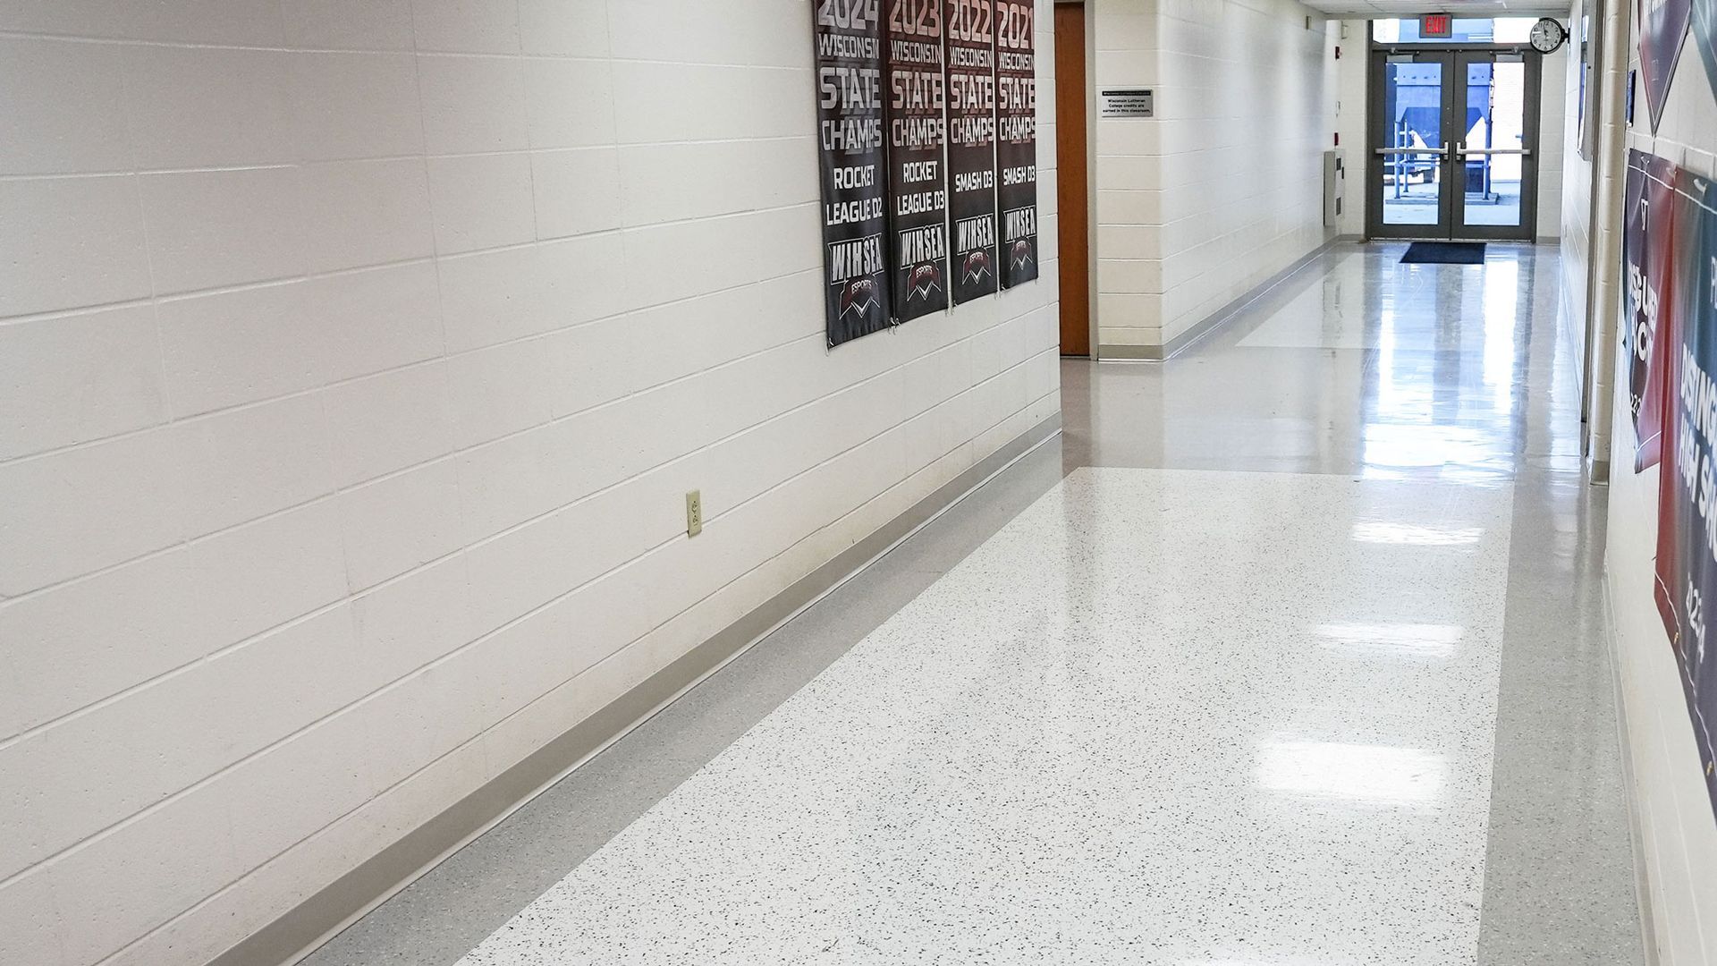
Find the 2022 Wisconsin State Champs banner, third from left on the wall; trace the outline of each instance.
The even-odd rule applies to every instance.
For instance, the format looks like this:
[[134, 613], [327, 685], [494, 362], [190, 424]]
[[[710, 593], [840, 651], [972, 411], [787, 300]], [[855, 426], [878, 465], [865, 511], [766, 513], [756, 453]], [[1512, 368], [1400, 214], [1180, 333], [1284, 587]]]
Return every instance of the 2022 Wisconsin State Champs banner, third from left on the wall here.
[[948, 215], [953, 299], [996, 290], [996, 10], [944, 0], [948, 34]]

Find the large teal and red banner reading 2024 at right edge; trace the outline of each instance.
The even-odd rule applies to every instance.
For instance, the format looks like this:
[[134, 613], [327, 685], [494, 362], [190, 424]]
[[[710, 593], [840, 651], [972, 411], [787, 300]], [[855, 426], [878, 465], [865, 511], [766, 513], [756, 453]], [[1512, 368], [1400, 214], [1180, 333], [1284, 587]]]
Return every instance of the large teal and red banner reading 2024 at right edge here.
[[[1659, 320], [1665, 400], [1662, 476], [1657, 483], [1657, 610], [1664, 617], [1681, 689], [1693, 717], [1693, 737], [1705, 770], [1705, 791], [1717, 810], [1717, 639], [1708, 638], [1705, 595], [1717, 608], [1717, 208], [1702, 203], [1708, 182], [1686, 174], [1679, 199], [1676, 292]], [[1717, 194], [1717, 193], [1714, 193]]]

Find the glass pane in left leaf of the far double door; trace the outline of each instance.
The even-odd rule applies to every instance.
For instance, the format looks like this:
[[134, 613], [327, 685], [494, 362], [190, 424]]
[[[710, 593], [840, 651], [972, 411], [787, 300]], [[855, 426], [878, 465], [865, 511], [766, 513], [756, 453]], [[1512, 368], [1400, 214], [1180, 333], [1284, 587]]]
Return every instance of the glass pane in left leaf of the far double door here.
[[1442, 64], [1384, 64], [1386, 225], [1435, 225], [1442, 210]]

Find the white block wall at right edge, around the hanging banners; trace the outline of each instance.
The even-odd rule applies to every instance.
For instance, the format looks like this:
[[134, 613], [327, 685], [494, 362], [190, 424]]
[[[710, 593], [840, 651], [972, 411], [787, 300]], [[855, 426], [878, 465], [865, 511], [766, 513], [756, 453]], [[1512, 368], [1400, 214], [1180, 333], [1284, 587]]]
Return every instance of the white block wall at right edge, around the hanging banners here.
[[[1626, 2], [1626, 0], [1611, 0]], [[1638, 69], [1638, 34], [1629, 41]], [[1652, 136], [1645, 81], [1635, 98], [1628, 143], [1717, 177], [1717, 98], [1690, 41], [1669, 91], [1664, 122]], [[1614, 225], [1611, 230], [1621, 230]], [[1602, 311], [1619, 313], [1619, 299]], [[1619, 328], [1617, 328], [1619, 332]], [[1614, 385], [1628, 383], [1617, 345], [1600, 349]], [[1605, 579], [1621, 663], [1623, 710], [1633, 765], [1635, 811], [1643, 839], [1645, 878], [1662, 966], [1717, 963], [1717, 818], [1700, 770], [1681, 670], [1652, 600], [1657, 540], [1657, 469], [1633, 473], [1633, 425], [1624, 392], [1614, 394]]]

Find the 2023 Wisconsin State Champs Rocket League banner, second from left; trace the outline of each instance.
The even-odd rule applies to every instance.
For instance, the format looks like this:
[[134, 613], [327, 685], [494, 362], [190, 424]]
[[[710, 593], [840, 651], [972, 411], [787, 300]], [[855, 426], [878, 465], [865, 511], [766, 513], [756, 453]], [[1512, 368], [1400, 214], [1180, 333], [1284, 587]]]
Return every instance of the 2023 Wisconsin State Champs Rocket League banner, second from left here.
[[948, 308], [943, 0], [888, 0], [888, 179], [895, 318]]

